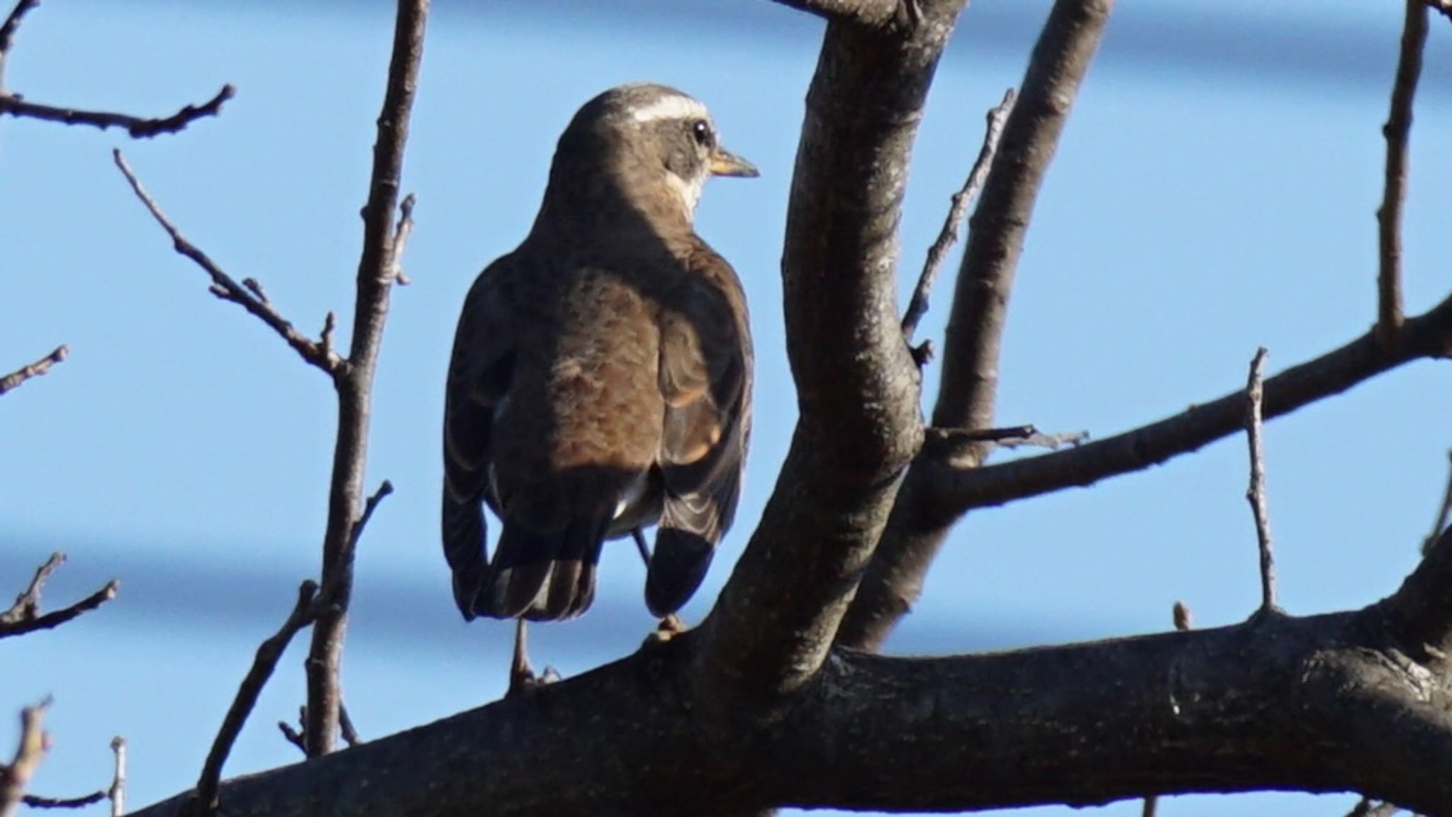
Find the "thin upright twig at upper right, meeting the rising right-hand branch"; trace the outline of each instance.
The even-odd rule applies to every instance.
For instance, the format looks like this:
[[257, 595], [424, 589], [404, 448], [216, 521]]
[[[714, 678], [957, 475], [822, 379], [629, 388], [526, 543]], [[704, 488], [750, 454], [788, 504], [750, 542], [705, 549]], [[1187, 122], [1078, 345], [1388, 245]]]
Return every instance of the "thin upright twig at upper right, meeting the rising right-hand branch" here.
[[1407, 0], [1401, 29], [1401, 55], [1391, 87], [1391, 112], [1381, 132], [1387, 137], [1387, 180], [1376, 211], [1379, 270], [1376, 273], [1376, 336], [1390, 345], [1401, 330], [1401, 211], [1407, 198], [1407, 140], [1411, 132], [1411, 102], [1422, 76], [1422, 49], [1427, 42], [1427, 6]]

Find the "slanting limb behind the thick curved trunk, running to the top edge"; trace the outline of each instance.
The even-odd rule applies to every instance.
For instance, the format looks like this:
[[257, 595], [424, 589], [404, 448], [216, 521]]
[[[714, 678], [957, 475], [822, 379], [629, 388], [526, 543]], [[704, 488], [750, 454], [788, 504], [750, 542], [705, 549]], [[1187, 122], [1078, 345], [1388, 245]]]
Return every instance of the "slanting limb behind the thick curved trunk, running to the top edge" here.
[[[1112, 0], [1059, 0], [1034, 47], [1019, 99], [1003, 126], [998, 157], [968, 224], [944, 343], [934, 426], [986, 429], [993, 424], [999, 353], [1018, 256], [1038, 186], [1112, 6]], [[974, 448], [970, 461], [982, 461], [987, 451], [987, 445]], [[955, 519], [928, 520], [922, 513], [931, 494], [929, 478], [916, 467], [909, 472], [883, 542], [844, 621], [839, 635], [844, 645], [880, 645], [921, 593], [922, 579]]]

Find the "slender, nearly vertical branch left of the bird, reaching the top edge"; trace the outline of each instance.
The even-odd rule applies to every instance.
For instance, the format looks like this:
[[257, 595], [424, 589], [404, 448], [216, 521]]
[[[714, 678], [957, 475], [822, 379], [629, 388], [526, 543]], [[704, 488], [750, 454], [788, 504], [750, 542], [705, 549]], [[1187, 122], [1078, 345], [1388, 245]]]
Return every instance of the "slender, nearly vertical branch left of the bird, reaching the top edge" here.
[[359, 257], [357, 298], [353, 304], [353, 340], [348, 369], [335, 378], [338, 390], [338, 436], [333, 449], [328, 490], [328, 523], [322, 538], [322, 586], [330, 609], [312, 627], [308, 650], [308, 718], [303, 728], [308, 754], [333, 752], [340, 725], [343, 688], [343, 635], [353, 596], [353, 554], [348, 541], [364, 519], [363, 478], [367, 465], [367, 429], [373, 398], [373, 371], [383, 343], [388, 298], [401, 266], [396, 238], [407, 237], [412, 202], [401, 224], [393, 222], [398, 189], [404, 173], [408, 116], [418, 87], [424, 57], [424, 26], [428, 0], [399, 0], [393, 25], [393, 48], [388, 67], [383, 106], [373, 142], [373, 169], [367, 202], [363, 205], [363, 251]]

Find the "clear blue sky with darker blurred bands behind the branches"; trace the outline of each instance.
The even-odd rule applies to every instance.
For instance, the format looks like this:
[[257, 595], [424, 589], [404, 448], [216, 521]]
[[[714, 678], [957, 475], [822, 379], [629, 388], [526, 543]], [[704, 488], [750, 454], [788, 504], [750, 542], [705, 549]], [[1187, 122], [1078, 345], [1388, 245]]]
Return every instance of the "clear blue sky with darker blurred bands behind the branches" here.
[[[0, 369], [71, 359], [0, 400], [0, 592], [51, 550], [46, 599], [116, 576], [121, 597], [0, 644], [0, 709], [55, 695], [52, 795], [109, 779], [131, 740], [131, 801], [192, 784], [256, 644], [317, 571], [334, 398], [258, 321], [208, 295], [110, 164], [122, 147], [183, 231], [256, 276], [311, 333], [351, 311], [357, 208], [391, 38], [389, 4], [57, 0], [26, 20], [7, 84], [57, 105], [168, 113], [222, 83], [219, 119], [177, 137], [0, 122]], [[440, 1], [405, 169], [418, 225], [380, 361], [369, 484], [398, 488], [359, 555], [344, 685], [364, 737], [499, 695], [510, 629], [457, 619], [436, 538], [441, 385], [473, 275], [524, 234], [555, 138], [611, 84], [703, 99], [762, 177], [713, 182], [698, 228], [741, 272], [758, 350], [758, 427], [738, 526], [687, 608], [710, 608], [786, 452], [793, 391], [780, 241], [820, 23], [765, 0]], [[1043, 1], [979, 0], [938, 73], [903, 220], [906, 292], [982, 138], [1021, 77]], [[1106, 436], [1320, 355], [1375, 315], [1375, 221], [1401, 4], [1122, 0], [1064, 132], [1019, 269], [999, 419]], [[1433, 19], [1413, 132], [1408, 313], [1446, 295], [1452, 32]], [[951, 282], [921, 330], [941, 337]], [[340, 331], [346, 337], [346, 326]], [[932, 388], [938, 369], [929, 369]], [[931, 395], [931, 391], [929, 391]], [[1417, 363], [1269, 426], [1284, 605], [1361, 606], [1416, 560], [1446, 478], [1446, 366]], [[955, 531], [902, 653], [1005, 648], [1241, 621], [1259, 600], [1244, 440], [1005, 509]], [[633, 548], [607, 552], [590, 616], [534, 629], [565, 675], [635, 648], [650, 621]], [[13, 587], [13, 590], [10, 589]], [[295, 760], [273, 723], [302, 701], [285, 659], [228, 765]], [[0, 746], [15, 725], [0, 717]], [[1162, 814], [1345, 813], [1352, 798], [1175, 798]], [[1137, 802], [1109, 814], [1137, 814]], [[1067, 813], [1067, 810], [1045, 810]]]

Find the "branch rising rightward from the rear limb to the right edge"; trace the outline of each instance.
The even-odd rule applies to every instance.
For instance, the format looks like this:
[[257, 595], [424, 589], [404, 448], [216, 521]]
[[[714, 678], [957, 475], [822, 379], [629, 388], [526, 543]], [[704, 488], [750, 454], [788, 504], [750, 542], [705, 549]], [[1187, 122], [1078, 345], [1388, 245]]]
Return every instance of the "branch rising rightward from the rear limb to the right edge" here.
[[[1268, 379], [1265, 413], [1266, 417], [1289, 414], [1410, 361], [1449, 355], [1452, 297], [1408, 320], [1390, 347], [1376, 340], [1375, 330], [1368, 331], [1340, 349]], [[1105, 477], [1159, 465], [1240, 430], [1243, 407], [1244, 391], [1237, 390], [1173, 417], [1079, 448], [976, 470], [944, 462], [935, 477], [939, 493], [932, 512], [951, 519], [973, 507], [1089, 486]]]

